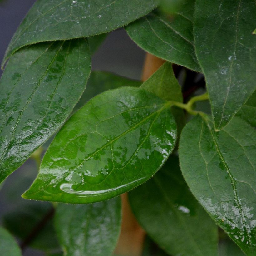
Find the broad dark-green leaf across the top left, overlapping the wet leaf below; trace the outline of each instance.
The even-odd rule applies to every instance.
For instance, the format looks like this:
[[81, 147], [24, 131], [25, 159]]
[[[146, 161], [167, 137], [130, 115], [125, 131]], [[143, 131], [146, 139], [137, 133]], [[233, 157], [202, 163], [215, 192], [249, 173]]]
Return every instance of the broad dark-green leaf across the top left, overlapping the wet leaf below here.
[[5, 60], [19, 48], [45, 41], [89, 37], [144, 16], [155, 0], [37, 0], [10, 42]]

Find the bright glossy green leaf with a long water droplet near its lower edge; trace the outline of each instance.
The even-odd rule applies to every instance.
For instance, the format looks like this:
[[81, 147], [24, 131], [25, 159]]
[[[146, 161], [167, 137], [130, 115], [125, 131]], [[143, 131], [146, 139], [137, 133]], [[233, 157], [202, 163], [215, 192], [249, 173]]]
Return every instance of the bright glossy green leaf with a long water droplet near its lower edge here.
[[106, 91], [62, 127], [23, 197], [80, 204], [109, 199], [148, 180], [175, 140], [169, 102], [139, 88]]

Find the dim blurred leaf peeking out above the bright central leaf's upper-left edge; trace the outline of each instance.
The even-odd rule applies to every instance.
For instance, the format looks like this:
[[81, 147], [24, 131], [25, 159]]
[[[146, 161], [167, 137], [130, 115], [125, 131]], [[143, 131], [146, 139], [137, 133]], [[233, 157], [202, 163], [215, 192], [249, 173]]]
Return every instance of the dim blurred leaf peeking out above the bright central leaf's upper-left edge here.
[[76, 104], [75, 109], [81, 108], [87, 101], [103, 91], [116, 89], [121, 86], [139, 87], [140, 85], [141, 81], [131, 80], [110, 72], [92, 71], [86, 85], [86, 91], [84, 91], [81, 99]]

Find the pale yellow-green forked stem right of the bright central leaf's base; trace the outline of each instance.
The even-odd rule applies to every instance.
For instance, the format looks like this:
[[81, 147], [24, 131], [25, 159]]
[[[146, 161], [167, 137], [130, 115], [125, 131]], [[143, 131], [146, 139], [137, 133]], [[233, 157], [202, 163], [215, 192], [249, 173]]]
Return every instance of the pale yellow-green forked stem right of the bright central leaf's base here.
[[185, 109], [189, 114], [191, 115], [201, 115], [202, 117], [206, 118], [206, 114], [202, 111], [195, 111], [193, 109], [193, 105], [196, 101], [205, 101], [205, 100], [208, 100], [209, 99], [209, 95], [208, 93], [204, 93], [204, 94], [201, 94], [201, 95], [198, 95], [198, 96], [194, 96], [192, 97], [187, 104], [184, 104], [184, 103], [181, 103], [181, 102], [178, 102], [178, 101], [170, 101], [170, 104], [171, 106], [177, 106], [179, 108], [183, 108]]

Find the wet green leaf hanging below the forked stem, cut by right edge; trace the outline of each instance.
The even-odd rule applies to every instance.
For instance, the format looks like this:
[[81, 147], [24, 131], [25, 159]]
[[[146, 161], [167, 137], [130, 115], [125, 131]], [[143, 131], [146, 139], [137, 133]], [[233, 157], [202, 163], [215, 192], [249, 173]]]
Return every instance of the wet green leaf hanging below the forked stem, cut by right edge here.
[[180, 137], [190, 190], [247, 255], [256, 248], [256, 131], [239, 117], [221, 131], [196, 116]]

